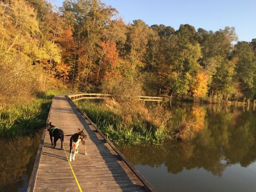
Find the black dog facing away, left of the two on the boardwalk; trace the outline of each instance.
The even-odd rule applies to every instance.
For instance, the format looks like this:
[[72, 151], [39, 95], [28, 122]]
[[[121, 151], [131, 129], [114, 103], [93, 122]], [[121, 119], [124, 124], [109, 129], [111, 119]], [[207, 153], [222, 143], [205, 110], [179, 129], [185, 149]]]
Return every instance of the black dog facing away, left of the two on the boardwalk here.
[[[58, 141], [58, 139], [60, 139], [60, 141], [61, 141], [60, 150], [62, 150], [63, 140], [64, 140], [63, 131], [61, 129], [59, 129], [58, 127], [53, 126], [52, 122], [50, 122], [49, 124], [47, 124], [45, 122], [45, 129], [47, 131], [49, 131], [52, 146], [53, 146], [53, 143], [54, 143], [54, 146], [52, 148], [54, 148], [56, 146], [56, 142]], [[52, 142], [52, 137], [54, 138], [53, 142]]]

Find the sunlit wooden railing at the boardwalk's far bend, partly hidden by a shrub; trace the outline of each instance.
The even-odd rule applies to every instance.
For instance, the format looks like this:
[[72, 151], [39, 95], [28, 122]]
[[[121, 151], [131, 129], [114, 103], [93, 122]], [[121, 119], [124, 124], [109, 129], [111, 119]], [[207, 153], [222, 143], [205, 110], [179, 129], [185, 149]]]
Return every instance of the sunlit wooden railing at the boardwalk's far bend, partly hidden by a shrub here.
[[[68, 95], [71, 100], [81, 100], [81, 99], [104, 99], [104, 98], [112, 98], [111, 94], [103, 94], [103, 93], [77, 93]], [[166, 97], [154, 97], [154, 96], [138, 96], [141, 101], [164, 101], [168, 98]]]

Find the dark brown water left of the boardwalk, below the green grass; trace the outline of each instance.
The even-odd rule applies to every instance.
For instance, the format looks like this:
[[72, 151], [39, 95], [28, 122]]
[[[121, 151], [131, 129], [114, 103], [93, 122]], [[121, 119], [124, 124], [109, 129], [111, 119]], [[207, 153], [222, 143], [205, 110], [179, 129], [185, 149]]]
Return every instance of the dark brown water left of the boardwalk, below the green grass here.
[[27, 191], [40, 134], [0, 141], [0, 191]]

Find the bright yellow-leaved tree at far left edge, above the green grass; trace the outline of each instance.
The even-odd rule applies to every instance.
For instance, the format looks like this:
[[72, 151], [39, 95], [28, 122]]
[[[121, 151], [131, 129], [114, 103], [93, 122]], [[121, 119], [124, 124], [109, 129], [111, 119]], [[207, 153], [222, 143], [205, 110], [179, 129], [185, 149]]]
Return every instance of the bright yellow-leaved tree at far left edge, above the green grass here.
[[23, 0], [0, 2], [0, 99], [30, 97], [39, 89], [36, 13]]

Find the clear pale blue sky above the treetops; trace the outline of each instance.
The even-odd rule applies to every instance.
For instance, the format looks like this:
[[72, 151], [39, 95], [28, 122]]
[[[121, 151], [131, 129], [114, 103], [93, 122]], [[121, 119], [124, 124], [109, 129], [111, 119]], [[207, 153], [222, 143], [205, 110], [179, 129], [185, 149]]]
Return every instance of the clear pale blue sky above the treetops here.
[[[61, 6], [63, 0], [53, 0]], [[256, 38], [256, 0], [102, 0], [126, 23], [141, 19], [151, 26], [178, 29], [189, 24], [206, 30], [235, 27], [239, 41]]]

